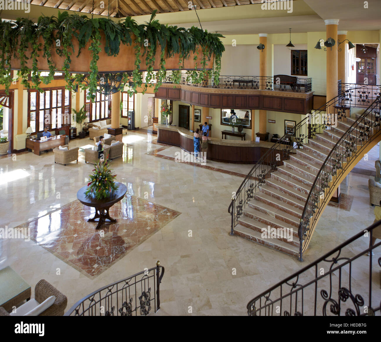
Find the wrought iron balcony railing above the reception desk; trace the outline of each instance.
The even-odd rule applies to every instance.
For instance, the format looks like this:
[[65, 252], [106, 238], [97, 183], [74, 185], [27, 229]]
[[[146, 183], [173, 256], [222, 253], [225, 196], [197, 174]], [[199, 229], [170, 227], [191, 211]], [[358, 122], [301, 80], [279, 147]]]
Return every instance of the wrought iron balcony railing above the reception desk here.
[[[142, 74], [145, 80], [145, 74]], [[156, 83], [152, 80], [151, 83]], [[166, 77], [162, 83], [173, 83], [172, 71], [166, 72]], [[218, 83], [218, 84], [217, 84]], [[312, 91], [311, 78], [298, 78], [287, 75], [275, 76], [223, 76], [217, 79], [214, 76], [203, 80], [202, 83], [195, 83], [186, 73], [181, 74], [181, 85], [188, 85], [200, 88], [214, 89], [251, 89], [251, 90], [267, 90], [267, 91], [287, 91], [294, 93], [309, 93]]]

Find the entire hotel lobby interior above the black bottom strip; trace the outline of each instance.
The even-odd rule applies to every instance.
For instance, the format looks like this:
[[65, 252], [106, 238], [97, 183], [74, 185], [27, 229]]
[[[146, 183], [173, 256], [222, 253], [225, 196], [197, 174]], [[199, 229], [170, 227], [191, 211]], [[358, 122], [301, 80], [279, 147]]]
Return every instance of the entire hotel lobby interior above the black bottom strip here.
[[[2, 23], [101, 26], [69, 67], [49, 50], [51, 75], [42, 34], [35, 65], [0, 55], [1, 316], [381, 315], [378, 1], [26, 8]], [[140, 67], [102, 31], [91, 73], [101, 18]], [[143, 24], [208, 43], [166, 56]]]

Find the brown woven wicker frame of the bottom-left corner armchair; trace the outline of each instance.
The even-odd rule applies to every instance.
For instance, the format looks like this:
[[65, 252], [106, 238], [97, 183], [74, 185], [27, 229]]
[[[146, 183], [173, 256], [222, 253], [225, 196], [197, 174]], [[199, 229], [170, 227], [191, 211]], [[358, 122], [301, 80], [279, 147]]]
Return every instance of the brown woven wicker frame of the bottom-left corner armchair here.
[[[67, 297], [45, 279], [40, 280], [34, 289], [34, 299], [41, 304], [50, 296], [55, 296], [56, 300], [53, 305], [40, 313], [39, 316], [63, 316], [67, 305]], [[0, 316], [10, 316], [10, 314], [3, 307], [0, 307]]]

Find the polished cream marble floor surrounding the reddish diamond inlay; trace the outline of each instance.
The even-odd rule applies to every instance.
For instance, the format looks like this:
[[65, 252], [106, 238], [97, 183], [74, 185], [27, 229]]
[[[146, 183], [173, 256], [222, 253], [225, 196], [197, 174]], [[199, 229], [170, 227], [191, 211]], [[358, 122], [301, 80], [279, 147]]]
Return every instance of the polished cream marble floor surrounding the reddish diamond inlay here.
[[[229, 235], [227, 213], [249, 165], [207, 161], [207, 166], [176, 163], [170, 147], [160, 147], [152, 134], [129, 132], [123, 142], [131, 145], [122, 158], [112, 161], [117, 181], [127, 185], [129, 196], [173, 211], [173, 219], [146, 236], [117, 262], [96, 276], [89, 276], [51, 253], [38, 239], [0, 239], [0, 268], [10, 265], [32, 286], [42, 278], [68, 298], [67, 309], [102, 286], [155, 266], [160, 260], [165, 275], [160, 287], [161, 308], [156, 315], [245, 315], [254, 296], [327, 253], [374, 220], [369, 205], [368, 176], [350, 173], [341, 191], [353, 196], [350, 211], [328, 206], [312, 236], [304, 262], [240, 237]], [[70, 142], [72, 146], [88, 139]], [[92, 165], [80, 157], [78, 164], [54, 164], [53, 152], [36, 156], [19, 153], [0, 159], [0, 227], [33, 224], [50, 212], [64, 210], [77, 200], [77, 190], [86, 184]], [[75, 203], [75, 202], [74, 202]], [[82, 213], [84, 215], [84, 213]], [[190, 236], [189, 231], [192, 231]], [[367, 239], [357, 248], [367, 248]], [[45, 246], [46, 247], [46, 246]], [[74, 248], [73, 248], [74, 249]], [[381, 256], [376, 250], [373, 258]], [[367, 265], [364, 256], [364, 268]], [[232, 274], [235, 268], [236, 274]], [[83, 270], [82, 270], [83, 271]], [[361, 277], [359, 276], [360, 279]], [[379, 285], [379, 284], [378, 284]], [[364, 288], [367, 284], [364, 283]], [[33, 295], [32, 295], [33, 296]]]

